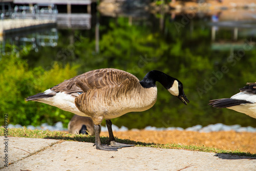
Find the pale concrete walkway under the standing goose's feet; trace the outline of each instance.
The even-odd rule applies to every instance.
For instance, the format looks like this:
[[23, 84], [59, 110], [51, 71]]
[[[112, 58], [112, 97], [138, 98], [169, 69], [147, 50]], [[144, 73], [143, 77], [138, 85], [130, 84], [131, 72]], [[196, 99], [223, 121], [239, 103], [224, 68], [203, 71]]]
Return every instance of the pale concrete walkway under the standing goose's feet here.
[[[100, 151], [92, 143], [8, 137], [0, 145], [0, 170], [256, 170], [256, 158], [182, 149], [126, 147]], [[4, 142], [3, 142], [4, 141]], [[8, 167], [4, 157], [8, 154]]]

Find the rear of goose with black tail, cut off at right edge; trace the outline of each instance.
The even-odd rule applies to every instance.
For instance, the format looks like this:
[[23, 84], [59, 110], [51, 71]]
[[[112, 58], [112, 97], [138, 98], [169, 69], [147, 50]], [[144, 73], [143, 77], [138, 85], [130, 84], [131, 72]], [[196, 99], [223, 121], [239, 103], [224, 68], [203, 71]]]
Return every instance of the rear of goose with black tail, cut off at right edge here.
[[227, 108], [237, 112], [244, 113], [250, 117], [256, 118], [256, 82], [246, 83], [238, 94], [230, 98], [210, 100], [209, 105], [214, 108]]

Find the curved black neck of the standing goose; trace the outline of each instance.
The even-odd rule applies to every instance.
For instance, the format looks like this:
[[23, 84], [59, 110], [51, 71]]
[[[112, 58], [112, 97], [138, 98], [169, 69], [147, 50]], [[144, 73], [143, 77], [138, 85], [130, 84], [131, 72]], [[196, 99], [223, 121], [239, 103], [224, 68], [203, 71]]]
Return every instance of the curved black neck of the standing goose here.
[[160, 82], [165, 89], [172, 87], [175, 78], [168, 76], [167, 74], [153, 70], [148, 72], [145, 77], [140, 81], [143, 88], [156, 87], [156, 81]]

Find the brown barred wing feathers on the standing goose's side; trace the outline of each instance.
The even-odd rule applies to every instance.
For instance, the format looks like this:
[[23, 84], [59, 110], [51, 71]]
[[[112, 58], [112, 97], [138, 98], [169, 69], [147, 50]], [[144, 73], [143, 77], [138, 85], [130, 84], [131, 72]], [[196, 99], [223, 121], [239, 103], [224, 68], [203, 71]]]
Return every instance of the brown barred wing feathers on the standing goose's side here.
[[125, 106], [122, 103], [131, 101], [131, 94], [135, 95], [139, 90], [137, 88], [141, 87], [138, 78], [130, 73], [116, 69], [107, 71], [103, 69], [100, 72], [104, 72], [102, 77], [95, 77], [95, 74], [92, 74], [94, 81], [86, 77], [86, 79], [79, 79], [80, 82], [77, 84], [81, 85], [83, 82], [92, 88], [75, 99], [77, 108], [92, 117], [97, 115], [95, 114], [97, 112], [110, 112], [112, 106], [122, 108], [123, 105]]

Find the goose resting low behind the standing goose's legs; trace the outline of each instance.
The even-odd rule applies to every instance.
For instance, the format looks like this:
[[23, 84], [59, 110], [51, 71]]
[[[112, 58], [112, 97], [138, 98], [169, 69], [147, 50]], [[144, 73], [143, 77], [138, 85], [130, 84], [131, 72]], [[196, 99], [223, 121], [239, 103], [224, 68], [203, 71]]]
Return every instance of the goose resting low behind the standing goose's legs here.
[[93, 120], [86, 116], [74, 115], [69, 121], [68, 130], [71, 134], [88, 134], [89, 132], [90, 135], [95, 135]]

